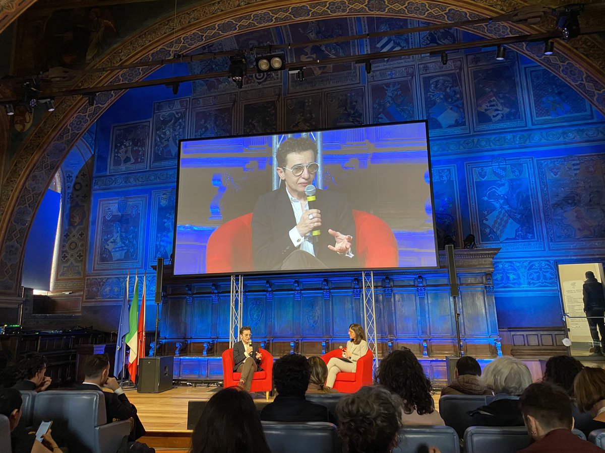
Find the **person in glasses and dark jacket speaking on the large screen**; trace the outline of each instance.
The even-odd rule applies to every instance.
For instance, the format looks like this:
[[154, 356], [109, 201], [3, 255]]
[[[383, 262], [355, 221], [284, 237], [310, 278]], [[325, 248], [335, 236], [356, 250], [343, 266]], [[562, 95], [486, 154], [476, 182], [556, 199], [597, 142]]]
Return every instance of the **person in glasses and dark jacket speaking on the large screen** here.
[[[347, 197], [316, 191], [309, 209], [305, 188], [319, 169], [308, 137], [287, 138], [278, 149], [281, 187], [261, 195], [252, 215], [252, 255], [257, 270], [355, 268], [355, 222]], [[320, 231], [313, 236], [313, 231]]]

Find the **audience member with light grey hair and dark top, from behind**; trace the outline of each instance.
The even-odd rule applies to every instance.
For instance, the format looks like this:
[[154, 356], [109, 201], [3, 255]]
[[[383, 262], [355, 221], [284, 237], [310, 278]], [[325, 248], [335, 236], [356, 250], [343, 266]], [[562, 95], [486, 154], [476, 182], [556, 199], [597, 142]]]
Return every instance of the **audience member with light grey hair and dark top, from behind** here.
[[512, 357], [500, 357], [486, 365], [481, 381], [495, 396], [488, 405], [469, 412], [473, 425], [523, 426], [518, 396], [532, 383], [527, 365]]

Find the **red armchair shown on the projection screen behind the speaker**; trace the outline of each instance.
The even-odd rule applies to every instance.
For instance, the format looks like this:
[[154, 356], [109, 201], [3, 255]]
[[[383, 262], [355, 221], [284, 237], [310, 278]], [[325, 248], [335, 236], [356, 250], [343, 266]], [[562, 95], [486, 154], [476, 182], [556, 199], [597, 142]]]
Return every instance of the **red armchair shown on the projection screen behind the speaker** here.
[[[380, 217], [353, 210], [356, 255], [361, 268], [396, 268], [399, 265], [397, 241], [391, 228]], [[219, 226], [206, 246], [206, 272], [254, 271], [252, 261], [252, 213]]]

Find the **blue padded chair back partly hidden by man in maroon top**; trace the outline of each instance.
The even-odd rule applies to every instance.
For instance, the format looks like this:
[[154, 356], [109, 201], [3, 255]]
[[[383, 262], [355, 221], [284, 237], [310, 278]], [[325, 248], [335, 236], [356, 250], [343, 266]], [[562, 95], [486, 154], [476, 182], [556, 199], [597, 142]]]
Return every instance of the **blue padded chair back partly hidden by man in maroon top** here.
[[[582, 440], [586, 436], [578, 429], [572, 431]], [[525, 426], [503, 428], [494, 426], [471, 426], [464, 433], [465, 453], [516, 453], [531, 444]]]

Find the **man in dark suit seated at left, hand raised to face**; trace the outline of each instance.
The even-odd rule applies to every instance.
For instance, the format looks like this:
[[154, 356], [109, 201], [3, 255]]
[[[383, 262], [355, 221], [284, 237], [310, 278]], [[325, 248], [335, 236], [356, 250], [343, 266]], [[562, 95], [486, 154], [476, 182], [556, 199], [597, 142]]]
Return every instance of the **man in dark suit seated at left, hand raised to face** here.
[[115, 377], [110, 377], [110, 360], [106, 354], [95, 354], [84, 364], [84, 382], [73, 390], [100, 390], [105, 397], [107, 423], [114, 420], [131, 419], [129, 440], [134, 441], [145, 435], [145, 428], [137, 416], [137, 408], [132, 405]]

